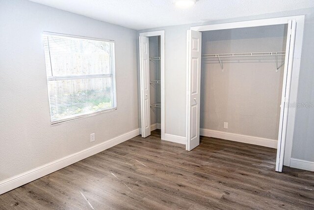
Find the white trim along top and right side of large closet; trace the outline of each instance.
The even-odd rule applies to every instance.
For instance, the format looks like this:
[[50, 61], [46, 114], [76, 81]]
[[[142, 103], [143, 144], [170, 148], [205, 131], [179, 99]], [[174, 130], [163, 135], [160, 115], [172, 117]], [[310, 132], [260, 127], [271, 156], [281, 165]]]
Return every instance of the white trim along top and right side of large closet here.
[[[238, 28], [248, 28], [248, 27], [281, 25], [281, 24], [288, 24], [289, 20], [293, 20], [293, 19], [296, 21], [297, 27], [296, 27], [296, 35], [295, 35], [295, 42], [294, 42], [293, 67], [292, 67], [292, 75], [291, 75], [291, 85], [290, 85], [290, 90], [289, 90], [290, 94], [288, 98], [288, 101], [291, 104], [291, 103], [296, 103], [297, 101], [299, 73], [300, 73], [300, 60], [301, 60], [301, 52], [302, 52], [303, 30], [304, 30], [304, 19], [305, 19], [304, 15], [261, 19], [261, 20], [251, 20], [251, 21], [241, 21], [241, 22], [234, 22], [234, 23], [195, 26], [195, 27], [190, 27], [190, 30], [208, 31], [208, 30], [225, 30], [225, 29], [238, 29]], [[286, 133], [286, 146], [285, 146], [285, 154], [284, 154], [285, 166], [290, 166], [294, 122], [295, 122], [295, 112], [296, 112], [295, 107], [292, 107], [292, 108], [289, 107], [287, 133]]]

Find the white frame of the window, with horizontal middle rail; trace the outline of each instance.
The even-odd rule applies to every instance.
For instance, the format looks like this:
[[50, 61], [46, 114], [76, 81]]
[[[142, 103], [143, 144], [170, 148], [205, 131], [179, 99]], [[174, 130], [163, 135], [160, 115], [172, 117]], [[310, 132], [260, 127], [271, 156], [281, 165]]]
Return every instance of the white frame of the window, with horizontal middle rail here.
[[[88, 40], [95, 40], [95, 41], [103, 41], [103, 42], [112, 42], [113, 43], [113, 48], [112, 48], [112, 54], [113, 54], [113, 64], [114, 67], [113, 69], [110, 68], [110, 73], [109, 74], [91, 74], [91, 75], [69, 75], [69, 76], [48, 76], [47, 74], [47, 66], [46, 66], [46, 56], [45, 56], [45, 70], [46, 70], [46, 81], [47, 81], [47, 91], [48, 91], [48, 100], [49, 100], [49, 109], [50, 109], [50, 121], [51, 124], [59, 124], [59, 123], [63, 123], [63, 122], [68, 122], [68, 121], [72, 121], [72, 120], [78, 120], [78, 119], [82, 119], [82, 118], [88, 118], [88, 117], [92, 117], [95, 115], [99, 115], [105, 112], [110, 112], [110, 111], [114, 111], [117, 110], [117, 89], [116, 89], [116, 55], [115, 55], [115, 41], [114, 40], [110, 40], [110, 39], [99, 39], [99, 38], [92, 38], [92, 37], [86, 37], [86, 36], [78, 36], [78, 35], [70, 35], [70, 34], [64, 34], [64, 33], [56, 33], [56, 32], [50, 32], [50, 31], [43, 31], [42, 33], [42, 42], [43, 42], [43, 46], [44, 46], [44, 38], [45, 35], [58, 35], [58, 36], [65, 36], [65, 37], [72, 37], [72, 38], [79, 38], [79, 39], [88, 39]], [[49, 44], [49, 42], [48, 42]], [[44, 54], [45, 54], [45, 49], [44, 50]], [[51, 56], [49, 55], [49, 59], [51, 62]], [[52, 66], [50, 67], [51, 71], [52, 71]], [[53, 73], [52, 73], [53, 75]], [[70, 118], [62, 118], [60, 120], [54, 120], [52, 121], [52, 113], [51, 113], [51, 100], [50, 100], [50, 90], [49, 90], [49, 85], [48, 82], [49, 81], [56, 81], [56, 80], [73, 80], [73, 79], [92, 79], [92, 78], [110, 78], [111, 79], [111, 84], [112, 84], [112, 92], [113, 92], [113, 102], [114, 102], [114, 106], [111, 109], [106, 109], [106, 110], [101, 110], [101, 111], [95, 111], [95, 112], [91, 112], [91, 113], [86, 113], [86, 114], [82, 114], [82, 115], [78, 115], [75, 117], [70, 117]]]

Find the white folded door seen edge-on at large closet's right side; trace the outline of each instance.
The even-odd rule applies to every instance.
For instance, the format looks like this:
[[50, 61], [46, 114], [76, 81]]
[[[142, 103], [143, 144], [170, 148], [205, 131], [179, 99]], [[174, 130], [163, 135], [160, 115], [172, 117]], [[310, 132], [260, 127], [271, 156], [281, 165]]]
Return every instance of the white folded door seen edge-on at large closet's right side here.
[[276, 171], [278, 172], [282, 172], [283, 166], [284, 166], [284, 155], [285, 155], [287, 123], [288, 123], [288, 108], [289, 108], [288, 105], [289, 105], [289, 96], [290, 96], [295, 31], [296, 31], [296, 21], [290, 20], [288, 23], [285, 71], [284, 71], [283, 91], [282, 91], [282, 98], [281, 98], [281, 105], [280, 105], [281, 107], [280, 108], [280, 122], [279, 122], [277, 159], [276, 159]]

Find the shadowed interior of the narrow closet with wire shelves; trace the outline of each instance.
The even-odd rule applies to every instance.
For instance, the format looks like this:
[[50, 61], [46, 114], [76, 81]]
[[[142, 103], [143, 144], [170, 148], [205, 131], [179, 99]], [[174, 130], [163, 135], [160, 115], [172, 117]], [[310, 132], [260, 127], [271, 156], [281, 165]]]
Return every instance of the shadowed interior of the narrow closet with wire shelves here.
[[161, 90], [160, 90], [160, 36], [149, 37], [150, 56], [150, 101], [151, 125], [160, 129], [161, 122]]

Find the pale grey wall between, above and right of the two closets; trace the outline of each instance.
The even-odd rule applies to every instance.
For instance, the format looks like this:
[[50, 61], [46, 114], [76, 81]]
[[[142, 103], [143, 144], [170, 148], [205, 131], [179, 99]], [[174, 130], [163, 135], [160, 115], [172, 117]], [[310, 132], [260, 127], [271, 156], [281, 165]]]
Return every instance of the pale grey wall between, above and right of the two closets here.
[[[186, 30], [191, 26], [221, 24], [265, 18], [305, 15], [305, 29], [298, 88], [298, 103], [314, 102], [314, 8], [263, 14], [251, 17], [210, 21], [200, 24], [162, 27], [139, 32], [165, 30], [165, 130], [185, 136], [186, 100]], [[292, 157], [314, 161], [314, 108], [296, 111]]]

